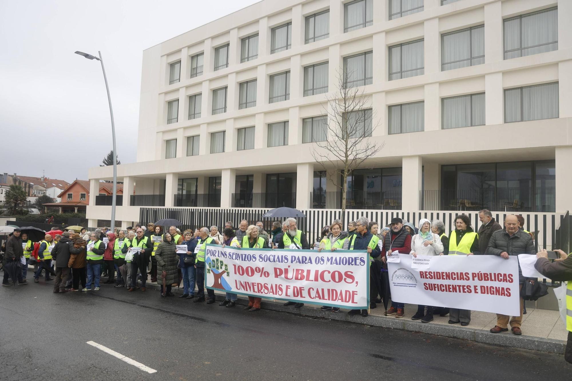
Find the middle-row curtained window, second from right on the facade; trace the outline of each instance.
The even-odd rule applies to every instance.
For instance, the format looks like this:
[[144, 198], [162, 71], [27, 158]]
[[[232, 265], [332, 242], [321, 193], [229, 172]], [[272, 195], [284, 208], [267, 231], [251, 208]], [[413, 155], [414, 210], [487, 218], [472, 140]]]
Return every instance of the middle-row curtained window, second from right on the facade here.
[[484, 63], [484, 25], [456, 30], [441, 36], [441, 70]]

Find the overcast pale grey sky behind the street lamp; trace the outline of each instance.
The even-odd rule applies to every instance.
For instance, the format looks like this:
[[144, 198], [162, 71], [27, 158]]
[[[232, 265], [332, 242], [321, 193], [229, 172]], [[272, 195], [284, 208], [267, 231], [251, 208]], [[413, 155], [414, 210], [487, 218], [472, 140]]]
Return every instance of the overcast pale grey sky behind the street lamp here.
[[112, 149], [136, 160], [142, 51], [258, 0], [0, 0], [0, 172], [87, 179]]

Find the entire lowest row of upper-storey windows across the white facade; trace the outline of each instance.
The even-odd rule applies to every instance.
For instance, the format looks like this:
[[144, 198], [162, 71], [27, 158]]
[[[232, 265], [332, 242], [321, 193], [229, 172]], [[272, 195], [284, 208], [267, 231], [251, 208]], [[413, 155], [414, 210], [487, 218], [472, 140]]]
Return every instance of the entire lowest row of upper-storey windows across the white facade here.
[[[485, 124], [484, 93], [443, 98], [442, 128], [461, 128]], [[558, 118], [558, 82], [505, 90], [505, 122]], [[347, 133], [351, 138], [372, 136], [372, 109], [349, 113]], [[388, 106], [390, 134], [424, 130], [425, 102]], [[288, 145], [288, 121], [268, 124], [268, 147]], [[317, 116], [302, 120], [302, 142], [327, 140], [328, 118]], [[254, 149], [255, 127], [237, 130], [237, 150]], [[166, 141], [165, 158], [176, 157], [177, 140]], [[186, 155], [198, 155], [199, 136], [187, 138]], [[210, 134], [210, 153], [225, 151], [225, 132]]]

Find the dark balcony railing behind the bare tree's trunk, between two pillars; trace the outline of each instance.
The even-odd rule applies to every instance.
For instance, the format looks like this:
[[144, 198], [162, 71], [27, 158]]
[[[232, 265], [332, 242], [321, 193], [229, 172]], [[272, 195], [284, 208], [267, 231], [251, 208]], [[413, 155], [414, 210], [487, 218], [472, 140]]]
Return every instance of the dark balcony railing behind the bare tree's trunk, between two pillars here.
[[[340, 209], [341, 191], [311, 192], [310, 208]], [[401, 191], [386, 190], [381, 192], [350, 190], [345, 192], [346, 209], [401, 209]]]

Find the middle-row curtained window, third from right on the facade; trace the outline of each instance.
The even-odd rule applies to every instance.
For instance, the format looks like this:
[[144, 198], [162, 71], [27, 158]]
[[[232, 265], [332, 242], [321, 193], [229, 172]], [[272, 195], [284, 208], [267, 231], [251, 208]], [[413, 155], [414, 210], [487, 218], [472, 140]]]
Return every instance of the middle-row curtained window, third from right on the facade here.
[[390, 81], [424, 73], [423, 39], [390, 46]]

